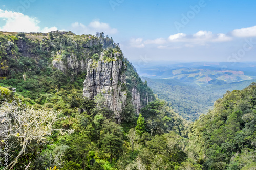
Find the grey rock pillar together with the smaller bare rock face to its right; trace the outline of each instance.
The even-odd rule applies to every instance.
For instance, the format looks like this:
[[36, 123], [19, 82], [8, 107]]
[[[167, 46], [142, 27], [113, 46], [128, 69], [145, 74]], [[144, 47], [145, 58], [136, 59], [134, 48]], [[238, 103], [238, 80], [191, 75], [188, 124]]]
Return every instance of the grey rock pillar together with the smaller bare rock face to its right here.
[[132, 95], [131, 103], [136, 114], [139, 114], [141, 107], [149, 102], [148, 96], [147, 94], [142, 95], [136, 86], [130, 91], [123, 88], [126, 84], [126, 65], [123, 63], [120, 53], [109, 54], [108, 57], [112, 58], [110, 62], [104, 60], [103, 55], [101, 53], [97, 62], [93, 62], [93, 60], [88, 62], [83, 96], [94, 99], [98, 94], [102, 94], [106, 99], [104, 105], [114, 111], [115, 118], [120, 122], [122, 120], [121, 112], [127, 103], [127, 92]]

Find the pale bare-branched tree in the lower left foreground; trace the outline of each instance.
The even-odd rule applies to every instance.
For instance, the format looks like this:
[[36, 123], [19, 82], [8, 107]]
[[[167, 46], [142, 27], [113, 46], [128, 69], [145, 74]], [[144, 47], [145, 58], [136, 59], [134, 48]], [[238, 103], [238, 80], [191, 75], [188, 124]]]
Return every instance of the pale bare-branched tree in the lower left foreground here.
[[[54, 123], [63, 118], [57, 118], [60, 112], [53, 110], [36, 110], [33, 107], [23, 108], [22, 104], [6, 103], [0, 106], [0, 116], [8, 118], [9, 134], [4, 141], [8, 141], [8, 156], [11, 162], [4, 169], [13, 169], [20, 157], [29, 151], [31, 143], [43, 145], [48, 143], [46, 136], [51, 136], [57, 130], [60, 134], [73, 133], [73, 130], [53, 129]], [[20, 149], [18, 155], [14, 151]], [[0, 154], [4, 154], [0, 151]], [[1, 158], [2, 161], [4, 158]]]

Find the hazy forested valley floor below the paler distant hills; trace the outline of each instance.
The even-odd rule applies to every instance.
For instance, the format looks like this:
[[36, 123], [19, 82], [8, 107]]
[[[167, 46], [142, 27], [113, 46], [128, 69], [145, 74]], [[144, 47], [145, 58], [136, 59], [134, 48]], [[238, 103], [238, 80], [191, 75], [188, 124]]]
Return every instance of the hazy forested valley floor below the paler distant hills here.
[[142, 77], [158, 98], [172, 104], [172, 108], [187, 120], [194, 121], [201, 114], [206, 114], [212, 109], [214, 102], [223, 97], [226, 91], [242, 90], [255, 80], [197, 86], [181, 82], [177, 79], [150, 79]]

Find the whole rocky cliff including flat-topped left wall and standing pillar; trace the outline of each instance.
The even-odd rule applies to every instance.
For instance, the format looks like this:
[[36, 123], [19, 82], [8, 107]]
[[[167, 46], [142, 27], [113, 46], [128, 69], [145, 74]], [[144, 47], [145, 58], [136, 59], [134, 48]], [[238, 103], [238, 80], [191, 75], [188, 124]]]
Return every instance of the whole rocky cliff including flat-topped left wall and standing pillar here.
[[[152, 90], [141, 81], [123, 54], [111, 53], [121, 52], [112, 38], [59, 31], [15, 36], [6, 36], [2, 41], [1, 49], [6, 54], [1, 56], [5, 62], [0, 65], [0, 79], [11, 72], [37, 74], [51, 66], [69, 75], [70, 81], [75, 75], [86, 73], [83, 96], [94, 99], [102, 94], [105, 107], [113, 110], [118, 121], [122, 120], [122, 113], [127, 116], [126, 113], [132, 112], [131, 105], [139, 114], [142, 107], [155, 99]], [[8, 67], [10, 63], [17, 67]]]

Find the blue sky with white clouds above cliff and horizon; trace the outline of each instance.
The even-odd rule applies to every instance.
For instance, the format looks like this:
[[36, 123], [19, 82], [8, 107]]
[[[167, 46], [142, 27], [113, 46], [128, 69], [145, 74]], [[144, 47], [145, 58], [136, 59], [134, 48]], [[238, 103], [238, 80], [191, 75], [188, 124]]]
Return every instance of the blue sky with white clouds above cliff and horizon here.
[[135, 65], [256, 61], [255, 0], [1, 2], [1, 31], [104, 32]]

